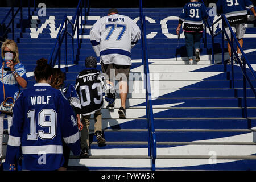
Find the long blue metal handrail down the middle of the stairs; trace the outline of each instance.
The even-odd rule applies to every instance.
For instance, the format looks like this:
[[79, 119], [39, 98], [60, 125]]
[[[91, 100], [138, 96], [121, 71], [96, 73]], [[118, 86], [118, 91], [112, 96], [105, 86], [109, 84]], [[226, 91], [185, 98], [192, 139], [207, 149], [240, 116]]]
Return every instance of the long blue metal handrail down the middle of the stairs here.
[[151, 157], [151, 169], [155, 171], [156, 159], [156, 135], [153, 117], [152, 96], [150, 87], [149, 63], [147, 57], [147, 38], [146, 38], [146, 19], [143, 15], [142, 0], [139, 5], [139, 18], [141, 22], [141, 41], [142, 41], [142, 63], [144, 65], [144, 85], [146, 85], [146, 118], [148, 123], [148, 156]]

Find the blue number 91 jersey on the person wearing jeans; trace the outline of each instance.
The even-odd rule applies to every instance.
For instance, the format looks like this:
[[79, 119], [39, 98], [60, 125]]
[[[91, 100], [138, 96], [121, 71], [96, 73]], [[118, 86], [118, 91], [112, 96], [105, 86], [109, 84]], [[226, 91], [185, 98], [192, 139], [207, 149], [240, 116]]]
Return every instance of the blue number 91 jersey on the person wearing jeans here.
[[180, 14], [179, 23], [184, 22], [184, 31], [201, 32], [203, 31], [203, 20], [207, 18], [208, 14], [202, 3], [189, 2]]

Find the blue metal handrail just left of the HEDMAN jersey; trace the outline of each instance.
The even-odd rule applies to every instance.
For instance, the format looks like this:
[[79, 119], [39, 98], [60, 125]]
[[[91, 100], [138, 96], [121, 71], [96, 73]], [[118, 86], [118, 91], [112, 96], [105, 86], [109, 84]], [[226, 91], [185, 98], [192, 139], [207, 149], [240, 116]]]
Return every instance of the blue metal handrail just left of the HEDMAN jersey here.
[[[77, 5], [77, 9], [76, 9], [76, 13], [75, 15], [72, 17], [72, 19], [70, 20], [67, 16], [64, 17], [63, 22], [61, 24], [60, 30], [57, 34], [57, 37], [55, 39], [55, 44], [52, 48], [51, 54], [48, 57], [48, 62], [49, 64], [54, 67], [56, 60], [58, 59], [58, 67], [60, 68], [60, 61], [61, 61], [61, 46], [63, 43], [63, 40], [65, 38], [65, 56], [64, 56], [64, 61], [65, 64], [67, 64], [67, 41], [68, 38], [67, 36], [69, 35], [71, 37], [71, 41], [72, 41], [72, 64], [75, 64], [75, 49], [74, 49], [74, 39], [75, 39], [75, 33], [76, 33], [76, 48], [77, 48], [77, 55], [79, 55], [79, 51], [80, 51], [80, 41], [79, 41], [79, 30], [81, 30], [81, 34], [83, 34], [83, 24], [82, 24], [82, 9], [83, 9], [83, 4], [84, 3], [84, 8], [85, 8], [85, 14], [84, 14], [84, 19], [86, 20], [86, 6], [89, 6], [88, 0], [80, 0], [78, 5]], [[89, 7], [88, 7], [89, 10]], [[79, 28], [79, 17], [81, 18], [81, 27]], [[86, 23], [86, 21], [84, 22]], [[65, 28], [64, 27], [65, 24]], [[72, 26], [72, 32], [68, 31], [68, 24], [70, 24]], [[55, 49], [58, 45], [57, 51], [55, 53]], [[55, 56], [53, 58], [53, 54], [55, 53]], [[76, 63], [78, 61], [76, 55]], [[68, 67], [66, 67], [66, 72], [68, 71]]]

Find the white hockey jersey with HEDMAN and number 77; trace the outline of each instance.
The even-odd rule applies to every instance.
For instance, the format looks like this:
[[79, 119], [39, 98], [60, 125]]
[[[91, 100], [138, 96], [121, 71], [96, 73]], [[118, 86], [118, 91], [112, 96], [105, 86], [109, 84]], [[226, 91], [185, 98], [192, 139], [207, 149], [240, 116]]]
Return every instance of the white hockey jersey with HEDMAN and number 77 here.
[[104, 16], [90, 30], [90, 42], [104, 64], [131, 65], [131, 48], [141, 38], [141, 30], [128, 16]]

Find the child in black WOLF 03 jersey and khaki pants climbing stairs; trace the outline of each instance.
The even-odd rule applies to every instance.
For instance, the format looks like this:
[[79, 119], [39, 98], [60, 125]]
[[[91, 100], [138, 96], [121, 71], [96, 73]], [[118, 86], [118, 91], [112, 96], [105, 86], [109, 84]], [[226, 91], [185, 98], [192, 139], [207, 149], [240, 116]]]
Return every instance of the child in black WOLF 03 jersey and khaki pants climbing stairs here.
[[[85, 69], [79, 73], [76, 78], [76, 91], [79, 94], [81, 102], [81, 115], [82, 124], [84, 127], [81, 130], [81, 158], [89, 156], [89, 125], [90, 116], [94, 114], [94, 135], [99, 144], [106, 142], [102, 135], [102, 114], [101, 107], [103, 105], [103, 91], [102, 80], [104, 77], [101, 75], [101, 71], [96, 69], [97, 59], [96, 57], [89, 56], [85, 59]], [[109, 84], [110, 85], [110, 84]], [[105, 80], [106, 86], [106, 80]], [[113, 89], [112, 89], [113, 90]], [[107, 91], [105, 91], [107, 92]], [[109, 97], [109, 98], [108, 98]], [[106, 94], [105, 100], [107, 102], [114, 102], [115, 94]]]

